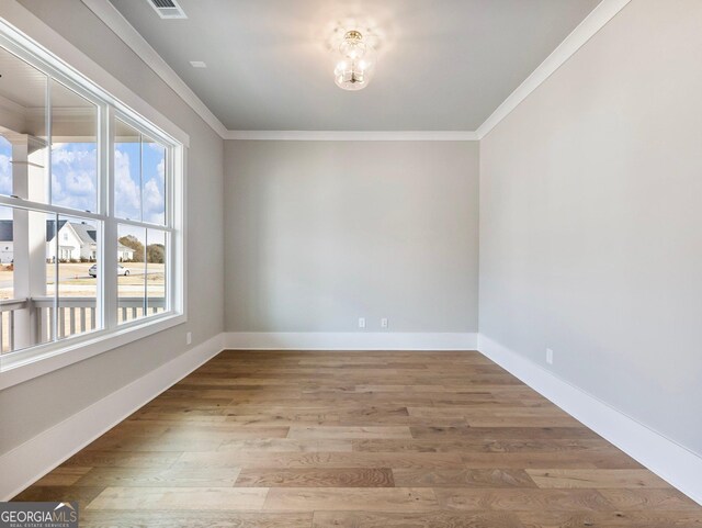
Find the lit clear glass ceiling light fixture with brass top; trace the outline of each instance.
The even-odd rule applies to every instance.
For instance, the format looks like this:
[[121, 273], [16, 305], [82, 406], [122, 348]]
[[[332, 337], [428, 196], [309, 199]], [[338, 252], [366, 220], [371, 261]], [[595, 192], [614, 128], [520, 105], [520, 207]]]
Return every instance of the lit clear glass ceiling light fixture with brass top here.
[[375, 49], [358, 30], [347, 31], [336, 50], [335, 82], [343, 90], [362, 90], [371, 81]]

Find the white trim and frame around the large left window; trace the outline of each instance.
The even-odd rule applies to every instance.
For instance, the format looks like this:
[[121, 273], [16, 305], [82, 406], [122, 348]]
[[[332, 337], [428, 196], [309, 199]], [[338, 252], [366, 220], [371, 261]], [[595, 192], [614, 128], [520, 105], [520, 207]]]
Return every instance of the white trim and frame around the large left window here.
[[[36, 41], [27, 36], [27, 33], [33, 35]], [[57, 80], [67, 80], [68, 85], [73, 88], [78, 85], [78, 91], [81, 96], [88, 93], [91, 101], [97, 98], [102, 103], [106, 103], [107, 115], [113, 112], [110, 108], [112, 106], [121, 115], [138, 123], [139, 127], [147, 131], [155, 139], [163, 141], [168, 144], [170, 147], [168, 151], [172, 156], [173, 171], [170, 191], [167, 191], [171, 193], [170, 200], [167, 199], [167, 204], [170, 207], [170, 212], [167, 212], [167, 214], [172, 215], [171, 244], [168, 249], [170, 258], [167, 261], [171, 271], [171, 290], [169, 292], [171, 311], [122, 324], [116, 328], [103, 327], [103, 329], [84, 335], [2, 355], [0, 356], [0, 390], [2, 390], [144, 339], [188, 321], [184, 192], [186, 186], [186, 148], [190, 144], [190, 137], [15, 0], [3, 2], [0, 10], [0, 40], [12, 52], [20, 52], [18, 53], [19, 56], [26, 58], [29, 54], [32, 57], [31, 64], [37, 65], [38, 63], [41, 69], [50, 72], [52, 77]], [[60, 54], [66, 61], [47, 48]], [[84, 71], [86, 75], [80, 74], [79, 70]], [[90, 80], [87, 75], [90, 75], [93, 80]], [[111, 122], [111, 119], [107, 119], [106, 122]], [[101, 125], [100, 134], [105, 132], [105, 127]], [[110, 143], [103, 141], [101, 145], [110, 145]], [[107, 148], [107, 150], [112, 149]], [[107, 170], [111, 179], [113, 153], [103, 151], [101, 154], [101, 164], [104, 164], [101, 170]], [[103, 194], [106, 193], [100, 193], [100, 200], [102, 200]], [[0, 198], [0, 202], [32, 209], [33, 205], [36, 205], [38, 210], [46, 206], [46, 204], [32, 204], [27, 201], [18, 203], [14, 199], [4, 196]], [[100, 211], [103, 214], [88, 214], [68, 209], [65, 212], [68, 215], [92, 216], [95, 220], [103, 221], [103, 226], [115, 225], [113, 221], [104, 222], [104, 212], [110, 210], [110, 204], [103, 203], [101, 205], [103, 207]], [[105, 209], [105, 206], [107, 207]], [[52, 209], [60, 207], [52, 206]], [[154, 227], [157, 228], [159, 226], [155, 225]], [[107, 240], [107, 238], [104, 238], [104, 240]], [[106, 247], [106, 244], [104, 246]], [[107, 276], [111, 273], [109, 273], [104, 263], [103, 271], [100, 276], [106, 281], [109, 279]], [[116, 273], [116, 270], [114, 272]], [[101, 285], [102, 291], [104, 291], [105, 285]], [[116, 282], [114, 288], [116, 290]], [[105, 304], [105, 310], [107, 310], [109, 304]]]

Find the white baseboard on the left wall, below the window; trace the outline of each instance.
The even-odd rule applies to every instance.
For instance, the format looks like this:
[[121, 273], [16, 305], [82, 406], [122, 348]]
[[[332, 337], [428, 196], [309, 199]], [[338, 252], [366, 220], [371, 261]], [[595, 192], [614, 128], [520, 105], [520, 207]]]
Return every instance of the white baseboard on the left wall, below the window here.
[[222, 349], [218, 334], [2, 454], [0, 501], [12, 498]]

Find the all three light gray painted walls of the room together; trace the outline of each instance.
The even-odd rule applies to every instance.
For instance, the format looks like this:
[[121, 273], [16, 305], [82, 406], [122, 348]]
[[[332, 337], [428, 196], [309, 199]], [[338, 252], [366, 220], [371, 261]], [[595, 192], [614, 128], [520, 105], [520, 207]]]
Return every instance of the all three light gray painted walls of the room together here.
[[[476, 144], [226, 142], [223, 193], [223, 142], [81, 2], [22, 3], [191, 135], [190, 322], [0, 392], [0, 453], [189, 329], [477, 329]], [[698, 0], [633, 1], [479, 160], [480, 332], [698, 453], [700, 26]]]

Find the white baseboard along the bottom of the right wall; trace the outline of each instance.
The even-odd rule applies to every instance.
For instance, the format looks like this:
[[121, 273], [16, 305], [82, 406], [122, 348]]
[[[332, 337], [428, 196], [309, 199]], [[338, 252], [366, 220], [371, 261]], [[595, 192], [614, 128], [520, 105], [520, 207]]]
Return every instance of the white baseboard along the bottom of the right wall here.
[[483, 334], [478, 350], [702, 505], [702, 458]]

